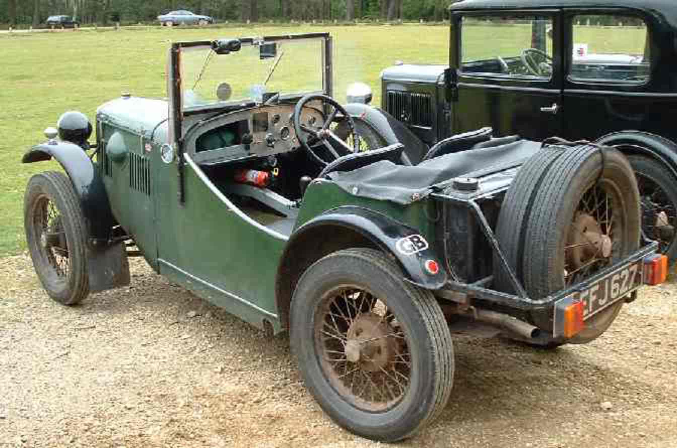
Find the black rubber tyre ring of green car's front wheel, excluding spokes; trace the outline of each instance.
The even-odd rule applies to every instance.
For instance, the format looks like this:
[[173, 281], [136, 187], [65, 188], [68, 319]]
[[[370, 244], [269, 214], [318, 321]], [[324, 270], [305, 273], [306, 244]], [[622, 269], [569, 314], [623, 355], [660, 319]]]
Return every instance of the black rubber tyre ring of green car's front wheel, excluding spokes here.
[[[29, 219], [28, 217], [28, 213], [30, 212], [28, 201], [30, 200], [32, 186], [35, 185], [35, 183], [46, 183], [49, 185], [47, 187], [48, 189], [49, 187], [53, 189], [53, 192], [49, 192], [48, 190], [43, 192], [50, 196], [50, 200], [55, 202], [55, 206], [59, 205], [58, 202], [62, 202], [63, 210], [59, 209], [59, 211], [66, 220], [66, 223], [64, 223], [64, 230], [67, 234], [70, 233], [70, 238], [68, 238], [68, 236], [66, 238], [68, 238], [69, 269], [71, 269], [68, 280], [71, 288], [70, 290], [66, 290], [67, 294], [65, 294], [65, 296], [59, 296], [49, 289], [49, 285], [45, 284], [41, 275], [38, 275], [38, 277], [43, 284], [45, 291], [47, 291], [47, 294], [49, 294], [51, 298], [64, 305], [76, 305], [89, 295], [87, 229], [85, 227], [85, 218], [83, 217], [80, 202], [77, 194], [74, 192], [70, 179], [68, 179], [64, 173], [59, 171], [45, 171], [32, 176], [28, 181], [26, 194], [24, 196], [24, 226], [26, 227], [26, 240], [29, 250], [33, 242], [31, 241], [32, 232], [28, 229], [29, 223], [32, 222], [32, 219]], [[41, 185], [41, 187], [44, 189], [45, 185]], [[52, 196], [51, 193], [56, 194], [57, 197]], [[72, 226], [70, 232], [66, 229], [66, 225]], [[35, 242], [35, 244], [37, 244], [37, 242]], [[74, 261], [72, 255], [76, 257], [77, 261]]]

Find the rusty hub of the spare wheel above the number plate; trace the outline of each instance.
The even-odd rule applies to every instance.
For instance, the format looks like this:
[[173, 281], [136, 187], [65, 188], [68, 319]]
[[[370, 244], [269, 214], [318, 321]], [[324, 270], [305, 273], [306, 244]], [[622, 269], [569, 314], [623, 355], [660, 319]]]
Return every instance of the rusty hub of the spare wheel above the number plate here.
[[613, 240], [603, 233], [596, 219], [580, 212], [569, 231], [568, 246], [571, 246], [571, 251], [568, 252], [567, 261], [578, 269], [592, 259], [608, 259], [611, 256]]

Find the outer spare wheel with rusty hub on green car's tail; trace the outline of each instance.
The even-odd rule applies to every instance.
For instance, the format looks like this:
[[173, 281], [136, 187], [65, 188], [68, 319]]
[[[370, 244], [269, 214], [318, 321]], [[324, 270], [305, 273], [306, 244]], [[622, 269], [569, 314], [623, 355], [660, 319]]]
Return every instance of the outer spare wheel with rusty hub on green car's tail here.
[[[520, 171], [513, 186], [523, 185], [520, 178], [528, 175]], [[638, 249], [640, 236], [636, 179], [617, 150], [592, 145], [567, 148], [540, 175], [545, 180], [519, 223], [525, 226], [519, 239], [521, 257], [508, 260], [533, 299], [569, 288], [626, 258]], [[515, 202], [517, 196], [508, 194], [502, 207], [523, 207]], [[508, 245], [502, 241], [505, 237], [498, 238]], [[586, 329], [567, 342], [584, 344], [598, 338], [622, 306], [619, 302], [588, 319]], [[533, 312], [529, 317], [540, 328], [552, 328], [552, 313]]]

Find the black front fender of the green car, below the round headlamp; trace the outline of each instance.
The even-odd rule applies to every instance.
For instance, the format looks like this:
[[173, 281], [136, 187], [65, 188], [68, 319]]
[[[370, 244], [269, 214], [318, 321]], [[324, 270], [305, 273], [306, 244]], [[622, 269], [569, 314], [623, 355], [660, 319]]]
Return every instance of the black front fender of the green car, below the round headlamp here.
[[80, 201], [90, 238], [108, 240], [114, 218], [110, 211], [104, 181], [93, 162], [78, 145], [53, 141], [35, 145], [22, 157], [22, 163], [55, 158], [63, 167]]

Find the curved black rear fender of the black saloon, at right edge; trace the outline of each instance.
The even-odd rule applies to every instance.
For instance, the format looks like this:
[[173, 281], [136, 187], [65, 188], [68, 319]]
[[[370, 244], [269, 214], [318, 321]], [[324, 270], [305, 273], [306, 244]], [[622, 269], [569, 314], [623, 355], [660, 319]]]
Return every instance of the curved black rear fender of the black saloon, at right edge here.
[[613, 132], [595, 141], [599, 145], [614, 146], [624, 154], [646, 154], [659, 160], [677, 178], [677, 143], [643, 131]]

